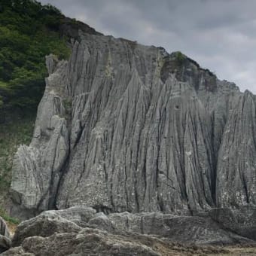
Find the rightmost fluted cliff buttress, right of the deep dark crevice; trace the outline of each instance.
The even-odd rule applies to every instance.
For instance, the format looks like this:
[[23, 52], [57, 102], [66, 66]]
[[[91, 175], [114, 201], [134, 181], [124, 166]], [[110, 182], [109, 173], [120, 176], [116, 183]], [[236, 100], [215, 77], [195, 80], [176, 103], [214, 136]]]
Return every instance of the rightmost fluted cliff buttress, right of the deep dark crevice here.
[[216, 198], [218, 206], [256, 203], [255, 96], [245, 91], [235, 101], [218, 154]]

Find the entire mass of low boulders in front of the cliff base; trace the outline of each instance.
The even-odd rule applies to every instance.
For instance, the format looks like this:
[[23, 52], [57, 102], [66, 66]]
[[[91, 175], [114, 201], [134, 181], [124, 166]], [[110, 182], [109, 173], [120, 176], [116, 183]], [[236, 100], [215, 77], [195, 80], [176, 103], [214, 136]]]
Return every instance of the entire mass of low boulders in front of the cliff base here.
[[[184, 254], [177, 241], [183, 244]], [[202, 247], [253, 241], [224, 230], [210, 218], [160, 212], [105, 215], [75, 206], [23, 221], [17, 227], [12, 248], [2, 255], [187, 255], [184, 248], [191, 242]], [[221, 251], [215, 248], [217, 252]], [[196, 249], [194, 253], [198, 255], [200, 251]]]

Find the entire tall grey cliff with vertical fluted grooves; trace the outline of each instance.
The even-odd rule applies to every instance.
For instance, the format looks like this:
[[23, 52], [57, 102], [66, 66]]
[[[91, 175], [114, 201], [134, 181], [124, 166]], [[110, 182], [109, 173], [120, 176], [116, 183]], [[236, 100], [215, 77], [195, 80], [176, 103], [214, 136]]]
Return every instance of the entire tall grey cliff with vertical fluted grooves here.
[[181, 53], [80, 35], [49, 77], [14, 157], [13, 215], [195, 215], [256, 203], [256, 98]]

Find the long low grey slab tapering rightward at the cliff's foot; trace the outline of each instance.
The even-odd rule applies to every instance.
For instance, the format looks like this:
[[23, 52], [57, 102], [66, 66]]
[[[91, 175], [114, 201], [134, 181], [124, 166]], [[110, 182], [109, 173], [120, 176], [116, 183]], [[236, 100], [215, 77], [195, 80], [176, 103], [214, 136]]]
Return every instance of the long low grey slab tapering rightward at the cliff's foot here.
[[[108, 216], [109, 221], [97, 223], [108, 232], [133, 232], [166, 237], [174, 242], [200, 244], [235, 244], [252, 242], [250, 239], [225, 230], [209, 217], [177, 216], [162, 213], [130, 214], [114, 213]], [[95, 223], [94, 218], [89, 224]], [[114, 231], [109, 228], [109, 223]], [[105, 227], [108, 224], [108, 228]], [[251, 238], [251, 237], [250, 237]]]

